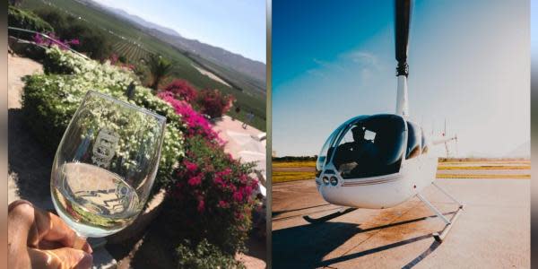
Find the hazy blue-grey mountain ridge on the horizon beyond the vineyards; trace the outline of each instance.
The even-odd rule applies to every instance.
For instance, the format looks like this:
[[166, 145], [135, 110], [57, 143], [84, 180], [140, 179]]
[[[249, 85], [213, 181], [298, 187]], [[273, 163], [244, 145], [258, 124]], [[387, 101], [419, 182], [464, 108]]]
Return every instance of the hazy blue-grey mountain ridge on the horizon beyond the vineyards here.
[[[195, 56], [200, 56], [206, 60], [212, 61], [217, 65], [230, 68], [240, 74], [255, 79], [258, 85], [263, 85], [265, 91], [265, 64], [256, 60], [249, 59], [237, 53], [230, 52], [224, 48], [215, 47], [202, 43], [195, 39], [187, 39], [181, 36], [176, 30], [163, 27], [159, 24], [145, 21], [143, 18], [126, 13], [126, 11], [113, 8], [104, 4], [99, 4], [91, 0], [77, 0], [82, 4], [91, 5], [95, 8], [111, 13], [114, 16], [120, 17], [128, 22], [132, 22], [139, 26], [141, 30], [152, 35], [157, 39], [161, 39], [170, 45], [187, 51]], [[260, 87], [261, 88], [261, 87]]]

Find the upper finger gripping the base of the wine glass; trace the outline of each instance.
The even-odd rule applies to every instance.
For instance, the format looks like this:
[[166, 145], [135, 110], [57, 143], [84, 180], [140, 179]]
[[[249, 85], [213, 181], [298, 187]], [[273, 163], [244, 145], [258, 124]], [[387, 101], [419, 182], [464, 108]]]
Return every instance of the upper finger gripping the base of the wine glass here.
[[35, 226], [38, 230], [39, 241], [48, 240], [60, 242], [65, 247], [77, 246], [85, 252], [91, 253], [91, 247], [85, 239], [76, 235], [62, 219], [53, 213], [35, 209]]

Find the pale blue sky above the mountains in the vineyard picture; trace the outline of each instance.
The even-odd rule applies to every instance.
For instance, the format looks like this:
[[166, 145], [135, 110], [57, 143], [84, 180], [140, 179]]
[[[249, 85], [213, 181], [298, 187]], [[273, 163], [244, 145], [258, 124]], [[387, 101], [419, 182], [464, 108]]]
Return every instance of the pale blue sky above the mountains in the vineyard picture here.
[[265, 0], [96, 0], [265, 63]]

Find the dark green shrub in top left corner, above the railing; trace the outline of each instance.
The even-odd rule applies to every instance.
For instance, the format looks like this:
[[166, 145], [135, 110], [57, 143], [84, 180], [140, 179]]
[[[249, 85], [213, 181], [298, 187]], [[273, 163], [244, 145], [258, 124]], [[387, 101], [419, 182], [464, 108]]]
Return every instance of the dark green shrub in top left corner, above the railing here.
[[[52, 32], [54, 29], [48, 22], [45, 22], [34, 13], [23, 11], [10, 5], [7, 10], [7, 22], [9, 26], [22, 28], [26, 30], [35, 30], [39, 32]], [[21, 39], [31, 40], [33, 34], [21, 33], [19, 31], [10, 31], [10, 35]]]

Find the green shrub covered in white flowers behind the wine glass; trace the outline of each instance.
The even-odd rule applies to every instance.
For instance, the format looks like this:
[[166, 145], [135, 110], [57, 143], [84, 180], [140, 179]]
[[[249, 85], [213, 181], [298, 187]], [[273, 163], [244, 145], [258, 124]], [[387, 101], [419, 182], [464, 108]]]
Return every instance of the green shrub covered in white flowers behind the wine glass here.
[[[26, 84], [22, 95], [22, 113], [34, 136], [49, 152], [55, 152], [69, 120], [88, 90], [99, 91], [117, 100], [152, 110], [167, 117], [167, 130], [155, 182], [157, 187], [154, 188], [158, 190], [161, 179], [170, 177], [184, 155], [184, 126], [180, 117], [165, 101], [153, 96], [150, 89], [142, 86], [137, 86], [133, 99], [127, 100], [127, 86], [137, 82], [134, 74], [124, 69], [108, 64], [100, 65], [58, 48], [48, 49], [47, 55], [49, 58], [46, 62], [50, 65], [45, 65], [45, 69], [48, 72], [61, 66], [61, 70], [71, 70], [72, 74], [35, 74], [24, 78]], [[51, 65], [55, 67], [52, 68]]]

